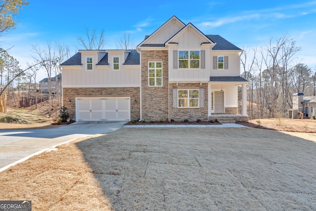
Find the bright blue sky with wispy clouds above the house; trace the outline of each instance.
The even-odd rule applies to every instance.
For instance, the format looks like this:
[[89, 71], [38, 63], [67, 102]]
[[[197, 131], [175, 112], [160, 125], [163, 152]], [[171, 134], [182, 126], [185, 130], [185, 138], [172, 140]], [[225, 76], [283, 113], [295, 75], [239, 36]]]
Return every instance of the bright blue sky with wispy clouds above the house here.
[[240, 48], [262, 46], [287, 33], [302, 48], [296, 62], [316, 68], [316, 0], [29, 1], [16, 18], [16, 29], [0, 37], [0, 47], [13, 46], [8, 52], [23, 69], [33, 61], [31, 45], [64, 42], [73, 55], [82, 49], [77, 37], [89, 27], [104, 29], [105, 48], [116, 49], [124, 31], [139, 44], [173, 15]]

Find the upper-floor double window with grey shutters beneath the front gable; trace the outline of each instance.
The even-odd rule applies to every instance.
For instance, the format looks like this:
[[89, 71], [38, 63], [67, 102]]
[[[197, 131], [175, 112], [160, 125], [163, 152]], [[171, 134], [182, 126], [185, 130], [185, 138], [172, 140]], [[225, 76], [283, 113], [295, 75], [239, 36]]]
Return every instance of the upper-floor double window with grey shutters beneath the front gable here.
[[178, 60], [179, 68], [199, 68], [199, 50], [179, 50]]

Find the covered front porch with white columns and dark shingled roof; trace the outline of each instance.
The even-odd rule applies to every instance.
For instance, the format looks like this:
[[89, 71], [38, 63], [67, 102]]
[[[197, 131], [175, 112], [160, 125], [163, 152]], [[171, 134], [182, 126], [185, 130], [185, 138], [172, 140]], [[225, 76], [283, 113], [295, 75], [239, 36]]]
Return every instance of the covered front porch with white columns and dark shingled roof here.
[[[236, 121], [239, 121], [241, 119], [248, 120], [248, 83], [249, 82], [247, 80], [241, 77], [210, 77], [210, 81], [208, 83], [209, 120], [218, 119], [219, 117], [223, 117], [226, 119], [230, 117], [232, 121], [233, 119]], [[241, 101], [241, 112], [238, 112], [238, 86], [241, 87], [241, 99], [239, 99]]]

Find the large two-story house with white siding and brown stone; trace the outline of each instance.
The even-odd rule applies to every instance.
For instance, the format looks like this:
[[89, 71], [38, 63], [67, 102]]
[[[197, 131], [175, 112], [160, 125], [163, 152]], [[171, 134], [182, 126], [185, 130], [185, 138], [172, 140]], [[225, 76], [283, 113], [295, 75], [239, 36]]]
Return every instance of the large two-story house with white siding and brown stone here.
[[241, 53], [173, 16], [136, 49], [79, 50], [62, 63], [63, 104], [76, 121], [247, 121]]

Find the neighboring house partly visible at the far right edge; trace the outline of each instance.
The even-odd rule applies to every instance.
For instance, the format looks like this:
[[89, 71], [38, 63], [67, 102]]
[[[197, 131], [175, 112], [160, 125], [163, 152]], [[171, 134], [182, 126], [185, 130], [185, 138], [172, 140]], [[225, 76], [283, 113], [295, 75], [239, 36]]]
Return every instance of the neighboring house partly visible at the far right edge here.
[[293, 94], [293, 108], [288, 110], [289, 119], [296, 119], [297, 113], [302, 112], [305, 117], [316, 115], [316, 96], [304, 96], [304, 93]]

